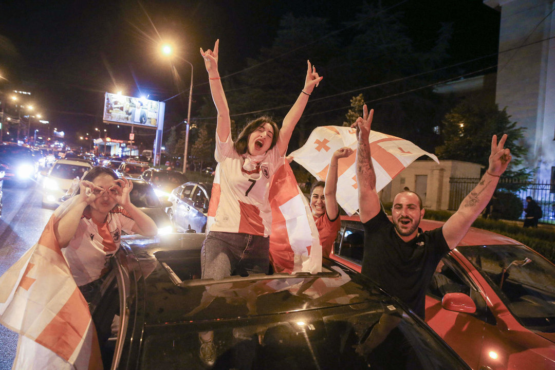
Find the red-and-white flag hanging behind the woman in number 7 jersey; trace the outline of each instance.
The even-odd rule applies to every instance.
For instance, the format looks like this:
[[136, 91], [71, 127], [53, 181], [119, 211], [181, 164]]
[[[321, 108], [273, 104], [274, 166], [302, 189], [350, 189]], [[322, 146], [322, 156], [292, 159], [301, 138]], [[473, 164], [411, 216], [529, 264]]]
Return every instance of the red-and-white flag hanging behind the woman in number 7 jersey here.
[[322, 247], [310, 205], [285, 163], [270, 186], [270, 259], [276, 272], [320, 272]]

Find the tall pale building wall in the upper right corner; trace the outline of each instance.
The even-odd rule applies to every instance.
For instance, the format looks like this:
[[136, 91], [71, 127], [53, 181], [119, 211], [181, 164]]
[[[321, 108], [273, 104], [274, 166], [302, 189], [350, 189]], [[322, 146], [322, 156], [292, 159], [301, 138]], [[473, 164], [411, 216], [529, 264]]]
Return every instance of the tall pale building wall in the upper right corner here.
[[496, 102], [527, 128], [524, 167], [549, 181], [555, 166], [555, 3], [552, 0], [486, 0], [501, 9]]

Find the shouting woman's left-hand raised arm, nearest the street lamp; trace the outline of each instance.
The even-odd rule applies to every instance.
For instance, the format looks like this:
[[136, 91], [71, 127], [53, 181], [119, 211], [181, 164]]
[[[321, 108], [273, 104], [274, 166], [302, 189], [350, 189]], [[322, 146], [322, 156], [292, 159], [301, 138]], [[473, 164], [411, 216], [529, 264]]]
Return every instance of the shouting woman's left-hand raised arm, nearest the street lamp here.
[[220, 73], [218, 72], [218, 48], [220, 39], [214, 44], [214, 51], [208, 49], [206, 51], [200, 48], [200, 54], [204, 58], [204, 65], [208, 71], [208, 80], [210, 82], [210, 92], [216, 110], [218, 110], [218, 124], [216, 125], [216, 133], [220, 141], [228, 139], [231, 130], [231, 118], [229, 117], [228, 100], [225, 98], [224, 87], [221, 85]]

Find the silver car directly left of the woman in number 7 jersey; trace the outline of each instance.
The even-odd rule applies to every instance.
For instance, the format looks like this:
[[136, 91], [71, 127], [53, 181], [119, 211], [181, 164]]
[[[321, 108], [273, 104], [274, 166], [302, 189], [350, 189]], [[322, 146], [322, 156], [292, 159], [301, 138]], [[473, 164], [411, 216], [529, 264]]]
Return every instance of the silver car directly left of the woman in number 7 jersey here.
[[185, 183], [171, 191], [168, 216], [177, 231], [206, 231], [212, 184]]

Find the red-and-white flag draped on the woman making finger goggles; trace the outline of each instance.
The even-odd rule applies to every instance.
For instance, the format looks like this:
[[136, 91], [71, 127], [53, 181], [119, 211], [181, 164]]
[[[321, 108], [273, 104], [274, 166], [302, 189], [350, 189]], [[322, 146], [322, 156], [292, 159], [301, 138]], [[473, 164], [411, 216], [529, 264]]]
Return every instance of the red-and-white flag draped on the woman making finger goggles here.
[[54, 235], [58, 207], [31, 249], [0, 277], [0, 323], [19, 333], [14, 369], [102, 369], [87, 302]]

